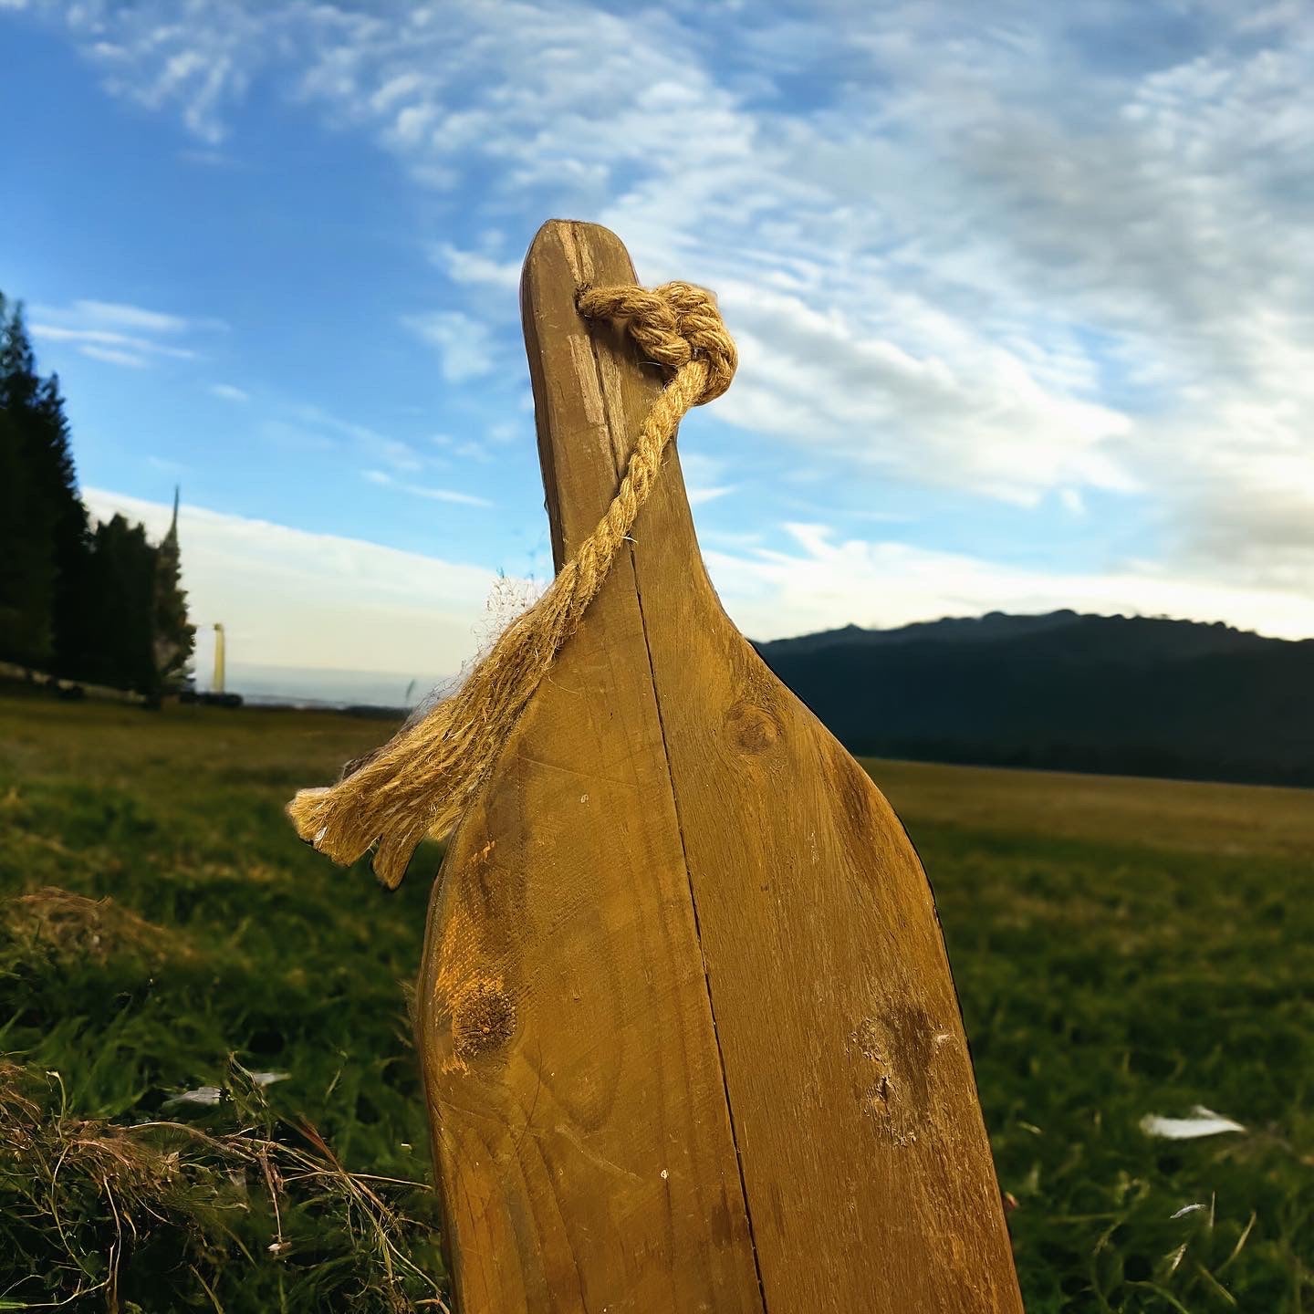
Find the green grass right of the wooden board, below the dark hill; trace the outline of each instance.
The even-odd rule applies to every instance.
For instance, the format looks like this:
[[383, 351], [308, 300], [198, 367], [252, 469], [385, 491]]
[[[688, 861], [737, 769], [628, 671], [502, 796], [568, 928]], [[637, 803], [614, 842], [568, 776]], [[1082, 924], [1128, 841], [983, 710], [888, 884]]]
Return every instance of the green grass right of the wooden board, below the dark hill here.
[[[1314, 794], [869, 769], [936, 888], [1030, 1314], [1314, 1309]], [[1139, 1129], [1197, 1104], [1248, 1134]]]

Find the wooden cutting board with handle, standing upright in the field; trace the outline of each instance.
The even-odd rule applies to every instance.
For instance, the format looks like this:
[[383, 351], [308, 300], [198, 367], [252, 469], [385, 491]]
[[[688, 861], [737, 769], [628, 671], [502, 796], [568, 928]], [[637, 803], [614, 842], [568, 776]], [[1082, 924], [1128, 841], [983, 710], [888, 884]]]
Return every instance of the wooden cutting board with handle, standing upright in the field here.
[[[551, 222], [522, 306], [557, 565], [662, 386]], [[733, 332], [733, 325], [731, 325]], [[1020, 1311], [930, 887], [721, 610], [674, 447], [453, 834], [418, 1037], [461, 1314]]]

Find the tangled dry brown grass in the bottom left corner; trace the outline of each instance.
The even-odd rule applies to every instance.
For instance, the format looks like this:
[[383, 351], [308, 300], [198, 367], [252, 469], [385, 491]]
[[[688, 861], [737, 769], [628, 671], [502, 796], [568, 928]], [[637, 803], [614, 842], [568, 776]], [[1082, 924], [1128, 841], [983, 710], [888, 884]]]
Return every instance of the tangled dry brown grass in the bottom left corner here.
[[[264, 1104], [256, 1075], [239, 1063], [221, 1092], [235, 1105], [242, 1126], [209, 1131], [177, 1121], [131, 1125], [70, 1113], [59, 1072], [39, 1072], [0, 1060], [0, 1223], [7, 1257], [25, 1254], [30, 1277], [62, 1292], [60, 1305], [85, 1305], [100, 1296], [110, 1314], [141, 1306], [122, 1293], [125, 1255], [163, 1243], [215, 1309], [206, 1271], [237, 1255], [252, 1260], [243, 1226], [252, 1214], [272, 1218], [265, 1247], [276, 1259], [296, 1247], [284, 1219], [307, 1209], [334, 1217], [369, 1276], [353, 1293], [353, 1307], [385, 1307], [397, 1314], [420, 1307], [447, 1311], [442, 1288], [407, 1254], [415, 1221], [386, 1198], [420, 1183], [348, 1172], [309, 1123], [288, 1126]], [[35, 1261], [39, 1259], [39, 1268]], [[62, 1275], [62, 1279], [60, 1276]], [[280, 1280], [288, 1307], [289, 1267]], [[284, 1275], [280, 1275], [283, 1279]], [[20, 1294], [20, 1279], [0, 1309], [39, 1309], [53, 1302]], [[417, 1286], [424, 1294], [417, 1294]]]

